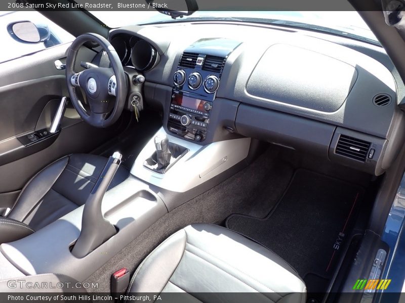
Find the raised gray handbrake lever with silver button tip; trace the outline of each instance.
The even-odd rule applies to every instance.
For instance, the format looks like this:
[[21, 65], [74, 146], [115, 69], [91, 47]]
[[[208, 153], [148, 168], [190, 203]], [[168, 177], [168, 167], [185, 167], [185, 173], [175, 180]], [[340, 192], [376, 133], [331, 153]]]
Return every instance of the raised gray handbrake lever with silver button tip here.
[[83, 258], [116, 234], [116, 229], [101, 212], [101, 203], [108, 186], [110, 185], [122, 155], [117, 151], [108, 158], [103, 172], [94, 185], [86, 200], [83, 210], [82, 231], [73, 246], [72, 254], [76, 258]]

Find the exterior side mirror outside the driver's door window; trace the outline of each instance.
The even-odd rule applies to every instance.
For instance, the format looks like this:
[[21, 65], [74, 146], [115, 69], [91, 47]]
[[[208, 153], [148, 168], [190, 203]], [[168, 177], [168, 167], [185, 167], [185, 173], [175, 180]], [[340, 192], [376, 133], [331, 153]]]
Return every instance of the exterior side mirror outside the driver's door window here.
[[35, 25], [31, 21], [18, 21], [7, 25], [10, 36], [21, 43], [36, 44], [49, 39], [51, 31], [47, 25]]

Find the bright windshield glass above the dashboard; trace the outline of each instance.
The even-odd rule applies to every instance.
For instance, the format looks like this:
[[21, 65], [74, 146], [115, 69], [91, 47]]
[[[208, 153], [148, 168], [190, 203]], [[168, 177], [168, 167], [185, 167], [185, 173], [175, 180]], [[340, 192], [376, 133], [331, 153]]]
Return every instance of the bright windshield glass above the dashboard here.
[[190, 16], [173, 20], [157, 11], [148, 12], [102, 12], [91, 11], [94, 16], [111, 28], [130, 24], [152, 24], [163, 22], [183, 22], [193, 20], [247, 21], [283, 24], [331, 32], [363, 41], [379, 44], [367, 24], [355, 11], [346, 12], [207, 12], [197, 11]]

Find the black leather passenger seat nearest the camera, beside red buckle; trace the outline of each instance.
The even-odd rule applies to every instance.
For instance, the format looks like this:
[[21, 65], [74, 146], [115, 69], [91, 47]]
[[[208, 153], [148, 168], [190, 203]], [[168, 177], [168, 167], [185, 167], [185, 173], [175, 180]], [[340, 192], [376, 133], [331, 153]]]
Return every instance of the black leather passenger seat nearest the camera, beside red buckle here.
[[[177, 292], [183, 294], [173, 297]], [[168, 293], [165, 299], [170, 301], [306, 300], [305, 283], [288, 263], [266, 247], [211, 224], [189, 225], [156, 247], [132, 277], [128, 298], [133, 293]]]

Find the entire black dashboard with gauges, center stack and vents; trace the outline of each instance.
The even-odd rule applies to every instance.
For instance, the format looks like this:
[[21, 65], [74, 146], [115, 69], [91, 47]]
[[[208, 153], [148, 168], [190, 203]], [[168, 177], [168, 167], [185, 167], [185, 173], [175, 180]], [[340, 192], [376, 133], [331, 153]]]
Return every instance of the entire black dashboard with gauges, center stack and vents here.
[[325, 34], [179, 22], [113, 29], [109, 40], [145, 77], [145, 102], [163, 110], [166, 131], [185, 140], [253, 137], [375, 175], [399, 151], [393, 75]]

